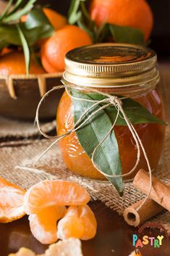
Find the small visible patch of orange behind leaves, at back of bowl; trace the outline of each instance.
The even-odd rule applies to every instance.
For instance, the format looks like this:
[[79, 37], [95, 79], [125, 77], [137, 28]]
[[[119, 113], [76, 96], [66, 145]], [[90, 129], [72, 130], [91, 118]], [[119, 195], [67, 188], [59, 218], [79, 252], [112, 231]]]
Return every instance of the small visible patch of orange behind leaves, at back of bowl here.
[[44, 7], [43, 12], [45, 13], [46, 17], [48, 17], [48, 20], [51, 22], [51, 25], [53, 25], [54, 30], [58, 30], [67, 24], [66, 17], [64, 17], [63, 15], [60, 15], [58, 12], [54, 11], [53, 9]]

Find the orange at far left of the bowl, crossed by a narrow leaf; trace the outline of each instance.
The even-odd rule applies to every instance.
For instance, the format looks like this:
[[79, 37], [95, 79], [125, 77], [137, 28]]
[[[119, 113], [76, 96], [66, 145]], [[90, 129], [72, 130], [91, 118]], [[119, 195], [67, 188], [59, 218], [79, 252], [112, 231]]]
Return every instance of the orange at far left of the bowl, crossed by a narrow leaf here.
[[[35, 62], [30, 61], [30, 74], [46, 73], [43, 68]], [[26, 74], [25, 57], [22, 51], [12, 51], [0, 57], [0, 75]]]

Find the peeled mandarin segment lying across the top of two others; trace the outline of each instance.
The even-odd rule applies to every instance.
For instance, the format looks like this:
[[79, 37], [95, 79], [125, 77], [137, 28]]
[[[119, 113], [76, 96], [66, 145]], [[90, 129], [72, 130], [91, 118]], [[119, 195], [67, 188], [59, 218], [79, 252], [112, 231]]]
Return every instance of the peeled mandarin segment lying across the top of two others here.
[[88, 191], [75, 182], [46, 180], [27, 190], [24, 207], [27, 214], [33, 214], [54, 205], [85, 205], [89, 201]]

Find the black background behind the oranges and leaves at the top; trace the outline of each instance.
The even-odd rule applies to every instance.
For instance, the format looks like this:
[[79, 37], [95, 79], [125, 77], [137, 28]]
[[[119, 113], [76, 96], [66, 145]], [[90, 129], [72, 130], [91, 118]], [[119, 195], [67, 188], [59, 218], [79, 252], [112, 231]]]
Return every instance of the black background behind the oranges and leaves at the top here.
[[[67, 15], [71, 0], [39, 0], [39, 4], [49, 4], [53, 9]], [[104, 0], [103, 0], [104, 1]], [[136, 0], [138, 1], [138, 0]], [[154, 28], [150, 37], [150, 47], [159, 58], [170, 57], [170, 0], [148, 0], [154, 15]]]

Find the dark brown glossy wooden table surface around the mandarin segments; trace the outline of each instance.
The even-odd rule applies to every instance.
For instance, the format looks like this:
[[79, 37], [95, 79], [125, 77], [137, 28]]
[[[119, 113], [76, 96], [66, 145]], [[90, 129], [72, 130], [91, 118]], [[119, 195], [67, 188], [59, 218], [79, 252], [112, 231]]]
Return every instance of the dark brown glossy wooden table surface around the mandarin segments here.
[[[163, 63], [160, 68], [162, 80], [159, 88], [165, 102], [166, 120], [170, 122], [170, 64]], [[134, 250], [132, 235], [137, 234], [137, 228], [128, 226], [122, 216], [101, 202], [90, 202], [90, 207], [97, 218], [98, 232], [94, 239], [82, 241], [84, 256], [128, 256]], [[17, 252], [20, 247], [28, 247], [37, 253], [43, 253], [47, 248], [30, 233], [27, 217], [13, 223], [0, 224], [0, 256]], [[159, 249], [145, 247], [142, 252], [143, 256], [170, 256], [170, 243], [167, 242], [166, 247]]]

